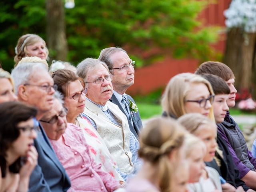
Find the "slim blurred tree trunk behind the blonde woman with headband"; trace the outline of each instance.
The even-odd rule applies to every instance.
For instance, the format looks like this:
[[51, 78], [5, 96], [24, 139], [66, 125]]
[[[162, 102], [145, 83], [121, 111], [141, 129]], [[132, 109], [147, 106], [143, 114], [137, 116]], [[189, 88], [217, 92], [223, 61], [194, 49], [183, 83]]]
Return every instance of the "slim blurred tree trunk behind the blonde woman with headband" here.
[[46, 0], [46, 33], [50, 59], [66, 61], [68, 44], [62, 0]]

